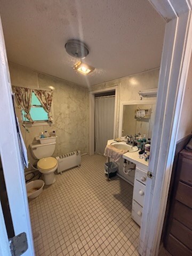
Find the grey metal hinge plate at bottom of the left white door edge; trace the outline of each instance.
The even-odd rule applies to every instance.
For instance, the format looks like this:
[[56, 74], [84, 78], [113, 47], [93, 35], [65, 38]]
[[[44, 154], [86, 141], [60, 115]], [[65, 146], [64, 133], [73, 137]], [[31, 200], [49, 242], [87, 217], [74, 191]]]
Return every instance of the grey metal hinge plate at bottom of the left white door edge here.
[[28, 249], [27, 235], [25, 232], [9, 239], [12, 256], [20, 256]]

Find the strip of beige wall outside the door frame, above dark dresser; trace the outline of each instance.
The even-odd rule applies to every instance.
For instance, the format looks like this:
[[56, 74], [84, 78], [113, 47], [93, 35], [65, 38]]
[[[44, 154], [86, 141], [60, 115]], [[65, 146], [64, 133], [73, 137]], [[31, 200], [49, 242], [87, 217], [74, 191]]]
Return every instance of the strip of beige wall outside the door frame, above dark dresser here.
[[181, 110], [178, 138], [180, 140], [192, 132], [192, 55], [190, 59], [186, 90]]

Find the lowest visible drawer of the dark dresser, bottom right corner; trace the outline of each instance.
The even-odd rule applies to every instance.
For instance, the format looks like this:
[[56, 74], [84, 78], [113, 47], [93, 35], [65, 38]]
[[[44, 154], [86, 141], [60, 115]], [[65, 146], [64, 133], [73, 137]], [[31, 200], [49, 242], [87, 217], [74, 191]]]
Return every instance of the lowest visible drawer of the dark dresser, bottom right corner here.
[[166, 249], [173, 256], [191, 256], [192, 253], [191, 250], [172, 235], [169, 235]]

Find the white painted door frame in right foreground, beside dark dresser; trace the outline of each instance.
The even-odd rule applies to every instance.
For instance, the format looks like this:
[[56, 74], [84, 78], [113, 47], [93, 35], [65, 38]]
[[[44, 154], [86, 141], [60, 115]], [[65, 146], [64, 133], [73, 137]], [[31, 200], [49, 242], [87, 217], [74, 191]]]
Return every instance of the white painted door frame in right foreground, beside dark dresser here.
[[191, 0], [149, 0], [166, 20], [139, 253], [158, 255], [192, 47]]

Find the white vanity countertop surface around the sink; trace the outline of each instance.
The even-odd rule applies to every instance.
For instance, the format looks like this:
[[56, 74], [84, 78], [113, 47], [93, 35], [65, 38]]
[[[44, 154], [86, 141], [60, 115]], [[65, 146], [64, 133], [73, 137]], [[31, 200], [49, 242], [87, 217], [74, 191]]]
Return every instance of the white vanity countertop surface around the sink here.
[[[116, 142], [115, 140], [108, 140], [107, 145]], [[118, 142], [117, 142], [118, 143]], [[141, 168], [142, 170], [148, 171], [148, 163], [145, 161], [144, 158], [139, 158], [139, 151], [136, 152], [127, 152], [122, 156], [127, 161], [130, 161], [137, 165], [137, 167]]]

